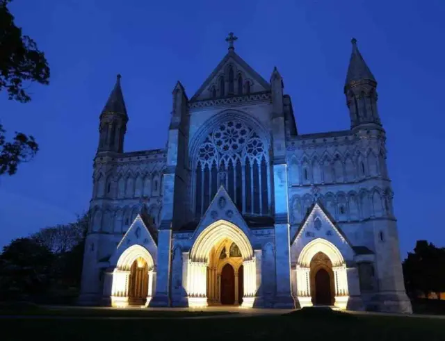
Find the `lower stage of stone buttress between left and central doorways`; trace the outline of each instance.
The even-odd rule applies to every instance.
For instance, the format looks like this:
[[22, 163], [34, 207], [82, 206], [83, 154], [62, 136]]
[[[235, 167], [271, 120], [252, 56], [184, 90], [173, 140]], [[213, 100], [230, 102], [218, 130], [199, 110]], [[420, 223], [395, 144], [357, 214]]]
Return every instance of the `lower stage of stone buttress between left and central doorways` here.
[[149, 306], [151, 307], [170, 306], [171, 242], [172, 230], [159, 230], [156, 292], [149, 303]]

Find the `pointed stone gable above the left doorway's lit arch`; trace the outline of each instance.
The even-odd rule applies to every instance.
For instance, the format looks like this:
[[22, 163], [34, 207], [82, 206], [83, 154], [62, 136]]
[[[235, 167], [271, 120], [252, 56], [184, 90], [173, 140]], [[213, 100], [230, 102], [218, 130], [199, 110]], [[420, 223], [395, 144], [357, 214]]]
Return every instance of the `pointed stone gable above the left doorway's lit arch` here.
[[138, 214], [128, 231], [124, 234], [124, 237], [122, 237], [122, 240], [120, 240], [118, 247], [113, 252], [113, 255], [110, 258], [110, 265], [118, 264], [118, 260], [122, 253], [133, 245], [140, 245], [147, 249], [156, 264], [158, 250], [156, 240], [156, 236], [152, 235], [149, 228], [145, 226], [143, 216]]

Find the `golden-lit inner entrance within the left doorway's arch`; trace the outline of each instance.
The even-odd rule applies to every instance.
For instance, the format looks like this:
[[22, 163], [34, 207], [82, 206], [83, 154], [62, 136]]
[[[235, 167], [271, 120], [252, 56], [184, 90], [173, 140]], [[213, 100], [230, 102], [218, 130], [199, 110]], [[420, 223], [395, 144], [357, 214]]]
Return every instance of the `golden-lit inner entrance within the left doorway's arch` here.
[[148, 294], [148, 264], [143, 258], [131, 265], [129, 276], [129, 305], [143, 306]]

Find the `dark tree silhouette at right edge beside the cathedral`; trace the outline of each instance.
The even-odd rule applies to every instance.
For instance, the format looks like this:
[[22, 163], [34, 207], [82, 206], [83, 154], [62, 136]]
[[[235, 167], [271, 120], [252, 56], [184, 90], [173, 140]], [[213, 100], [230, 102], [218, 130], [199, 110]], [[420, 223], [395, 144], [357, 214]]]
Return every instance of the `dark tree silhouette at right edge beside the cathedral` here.
[[411, 296], [422, 292], [445, 292], [445, 248], [418, 240], [414, 252], [403, 261], [405, 287]]

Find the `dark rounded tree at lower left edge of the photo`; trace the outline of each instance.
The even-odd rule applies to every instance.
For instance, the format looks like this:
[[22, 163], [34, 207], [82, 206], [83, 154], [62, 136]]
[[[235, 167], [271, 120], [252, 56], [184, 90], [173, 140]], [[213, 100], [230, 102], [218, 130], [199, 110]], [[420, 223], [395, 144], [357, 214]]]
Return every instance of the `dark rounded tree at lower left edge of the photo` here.
[[13, 240], [0, 254], [0, 299], [36, 299], [50, 287], [54, 255], [30, 238]]

